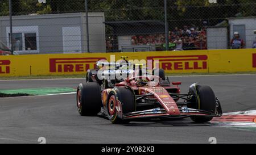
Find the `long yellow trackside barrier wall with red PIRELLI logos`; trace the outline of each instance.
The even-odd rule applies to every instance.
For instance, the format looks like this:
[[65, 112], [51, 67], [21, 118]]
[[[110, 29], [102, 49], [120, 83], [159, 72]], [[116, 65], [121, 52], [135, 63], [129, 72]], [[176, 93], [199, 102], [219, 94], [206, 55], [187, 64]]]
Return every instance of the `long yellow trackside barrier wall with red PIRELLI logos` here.
[[110, 55], [159, 60], [166, 73], [256, 72], [256, 49], [0, 56], [0, 77], [83, 74]]

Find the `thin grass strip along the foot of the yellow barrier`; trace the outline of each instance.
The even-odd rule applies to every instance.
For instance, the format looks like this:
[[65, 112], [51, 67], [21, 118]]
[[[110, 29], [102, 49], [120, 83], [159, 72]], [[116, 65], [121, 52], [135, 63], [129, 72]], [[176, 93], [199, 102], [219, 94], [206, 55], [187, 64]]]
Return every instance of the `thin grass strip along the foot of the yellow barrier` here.
[[[256, 74], [256, 72], [235, 72], [235, 73], [173, 73], [166, 76], [201, 76], [201, 75], [227, 75], [227, 74]], [[56, 79], [56, 78], [84, 78], [85, 74], [62, 75], [62, 76], [23, 76], [23, 77], [0, 77], [0, 79]]]

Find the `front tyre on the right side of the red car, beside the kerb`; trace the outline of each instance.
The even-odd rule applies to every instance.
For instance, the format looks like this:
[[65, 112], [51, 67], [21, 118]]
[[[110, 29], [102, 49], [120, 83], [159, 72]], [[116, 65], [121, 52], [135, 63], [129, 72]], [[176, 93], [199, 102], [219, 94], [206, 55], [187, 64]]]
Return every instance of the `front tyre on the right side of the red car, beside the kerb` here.
[[[196, 86], [198, 99], [195, 99], [195, 105], [188, 106], [199, 110], [209, 111], [212, 114], [216, 112], [216, 96], [209, 86]], [[196, 123], [205, 123], [213, 119], [213, 117], [191, 116], [191, 119]]]

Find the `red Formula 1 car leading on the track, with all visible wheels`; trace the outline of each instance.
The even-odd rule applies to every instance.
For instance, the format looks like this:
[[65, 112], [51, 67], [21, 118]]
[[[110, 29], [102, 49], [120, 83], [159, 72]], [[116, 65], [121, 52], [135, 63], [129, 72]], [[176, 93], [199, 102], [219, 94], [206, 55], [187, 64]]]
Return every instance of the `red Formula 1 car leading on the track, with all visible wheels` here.
[[[168, 78], [169, 79], [169, 78]], [[134, 119], [187, 118], [209, 122], [222, 116], [221, 105], [209, 86], [191, 85], [188, 94], [180, 94], [181, 82], [159, 76], [137, 76], [101, 89], [97, 82], [80, 83], [77, 88], [79, 114], [105, 115], [112, 123]]]

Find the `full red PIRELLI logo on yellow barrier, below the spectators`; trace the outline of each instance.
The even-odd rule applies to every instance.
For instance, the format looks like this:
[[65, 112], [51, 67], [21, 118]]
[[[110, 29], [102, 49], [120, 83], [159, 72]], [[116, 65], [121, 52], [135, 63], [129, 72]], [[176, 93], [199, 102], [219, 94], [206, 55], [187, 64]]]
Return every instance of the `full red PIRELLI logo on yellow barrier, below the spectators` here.
[[167, 71], [171, 70], [207, 70], [207, 55], [188, 55], [188, 56], [152, 56], [147, 60], [159, 62], [159, 68]]

